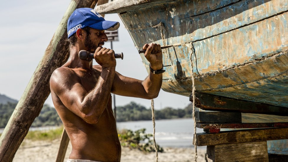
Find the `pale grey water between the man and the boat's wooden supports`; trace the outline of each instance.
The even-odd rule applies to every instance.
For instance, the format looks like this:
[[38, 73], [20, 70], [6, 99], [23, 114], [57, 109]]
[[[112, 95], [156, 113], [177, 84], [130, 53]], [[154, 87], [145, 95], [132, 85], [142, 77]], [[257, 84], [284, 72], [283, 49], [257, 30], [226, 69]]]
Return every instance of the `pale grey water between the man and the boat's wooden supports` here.
[[[194, 147], [193, 134], [194, 124], [192, 118], [168, 119], [155, 121], [155, 140], [161, 147]], [[153, 123], [151, 121], [117, 122], [118, 130], [146, 129], [146, 133], [153, 134]], [[197, 133], [203, 129], [196, 129]], [[202, 146], [199, 148], [206, 148]]]

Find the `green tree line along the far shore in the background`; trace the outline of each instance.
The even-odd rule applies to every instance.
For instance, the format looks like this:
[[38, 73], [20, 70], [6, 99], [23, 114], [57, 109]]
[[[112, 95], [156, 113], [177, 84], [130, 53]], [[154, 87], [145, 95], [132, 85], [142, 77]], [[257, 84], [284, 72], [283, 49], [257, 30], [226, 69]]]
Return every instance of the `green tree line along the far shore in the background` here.
[[[6, 126], [16, 105], [17, 103], [0, 104], [0, 128], [4, 128]], [[190, 104], [184, 109], [173, 109], [171, 107], [166, 107], [161, 110], [154, 110], [154, 113], [156, 120], [173, 119], [192, 117], [191, 110], [192, 106]], [[135, 102], [130, 102], [125, 106], [117, 107], [117, 122], [151, 120], [151, 117], [151, 108], [146, 108], [142, 105], [136, 104]], [[32, 127], [55, 126], [61, 124], [62, 122], [55, 108], [45, 104], [39, 116], [36, 117], [32, 123]]]

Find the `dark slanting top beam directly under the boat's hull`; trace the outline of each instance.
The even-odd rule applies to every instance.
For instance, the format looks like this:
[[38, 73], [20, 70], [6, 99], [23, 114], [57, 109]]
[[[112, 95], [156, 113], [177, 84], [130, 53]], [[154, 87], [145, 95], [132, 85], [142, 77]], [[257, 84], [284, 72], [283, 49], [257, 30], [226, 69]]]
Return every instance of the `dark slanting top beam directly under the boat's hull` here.
[[[192, 94], [190, 101], [192, 101]], [[287, 107], [248, 102], [212, 94], [196, 93], [195, 102], [195, 106], [203, 110], [288, 116]]]

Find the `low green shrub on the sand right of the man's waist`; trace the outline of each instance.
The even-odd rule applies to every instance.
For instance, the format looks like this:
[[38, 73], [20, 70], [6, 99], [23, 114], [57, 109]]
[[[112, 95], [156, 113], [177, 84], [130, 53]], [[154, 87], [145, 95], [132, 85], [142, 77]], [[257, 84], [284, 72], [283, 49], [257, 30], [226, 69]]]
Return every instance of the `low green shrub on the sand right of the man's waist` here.
[[[145, 131], [145, 128], [136, 130], [135, 132], [127, 129], [121, 130], [118, 134], [121, 145], [123, 147], [137, 148], [145, 152], [155, 151], [153, 140], [151, 140], [153, 135], [147, 134]], [[158, 152], [164, 151], [158, 144], [156, 146]]]

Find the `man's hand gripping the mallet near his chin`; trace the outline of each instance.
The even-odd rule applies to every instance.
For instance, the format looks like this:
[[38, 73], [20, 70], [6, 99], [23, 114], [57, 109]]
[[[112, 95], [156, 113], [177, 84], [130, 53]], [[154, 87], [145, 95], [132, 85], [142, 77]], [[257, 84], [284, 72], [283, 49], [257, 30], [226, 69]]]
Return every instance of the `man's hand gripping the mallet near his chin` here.
[[114, 53], [114, 50], [110, 50], [109, 48], [98, 47], [95, 50], [94, 58], [102, 68], [114, 67], [116, 66]]

